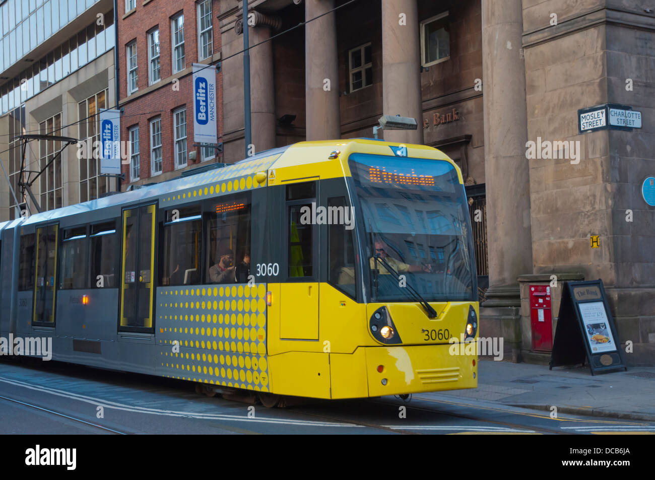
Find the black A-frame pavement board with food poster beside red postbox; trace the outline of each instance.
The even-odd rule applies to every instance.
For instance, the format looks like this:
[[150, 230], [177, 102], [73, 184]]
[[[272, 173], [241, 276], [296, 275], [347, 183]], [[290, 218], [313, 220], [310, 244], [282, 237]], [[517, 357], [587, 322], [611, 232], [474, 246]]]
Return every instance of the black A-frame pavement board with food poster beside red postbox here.
[[626, 369], [603, 280], [565, 282], [550, 369], [589, 361], [591, 375]]

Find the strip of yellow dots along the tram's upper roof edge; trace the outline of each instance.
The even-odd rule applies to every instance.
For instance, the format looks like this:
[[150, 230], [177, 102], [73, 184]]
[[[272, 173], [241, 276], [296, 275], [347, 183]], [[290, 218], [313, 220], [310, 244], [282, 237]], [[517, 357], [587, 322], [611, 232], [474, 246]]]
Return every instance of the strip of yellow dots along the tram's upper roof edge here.
[[182, 204], [221, 193], [263, 187], [265, 183], [258, 183], [255, 174], [268, 170], [280, 155], [276, 153], [166, 183], [166, 193], [160, 196], [160, 201], [164, 206]]

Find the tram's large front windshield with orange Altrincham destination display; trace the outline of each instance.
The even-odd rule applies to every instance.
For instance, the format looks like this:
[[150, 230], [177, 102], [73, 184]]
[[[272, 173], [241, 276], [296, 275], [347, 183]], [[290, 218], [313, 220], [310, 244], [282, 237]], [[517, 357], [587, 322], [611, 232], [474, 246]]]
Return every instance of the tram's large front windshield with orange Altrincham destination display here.
[[349, 164], [373, 301], [415, 301], [407, 286], [426, 301], [475, 300], [468, 204], [453, 165], [364, 153]]

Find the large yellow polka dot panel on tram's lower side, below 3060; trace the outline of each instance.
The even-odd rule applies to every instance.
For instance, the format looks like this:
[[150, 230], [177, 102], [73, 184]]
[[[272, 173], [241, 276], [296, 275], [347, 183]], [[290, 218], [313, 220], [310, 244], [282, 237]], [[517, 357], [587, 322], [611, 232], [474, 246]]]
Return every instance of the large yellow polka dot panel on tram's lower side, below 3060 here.
[[265, 284], [159, 287], [160, 375], [268, 392], [265, 295]]

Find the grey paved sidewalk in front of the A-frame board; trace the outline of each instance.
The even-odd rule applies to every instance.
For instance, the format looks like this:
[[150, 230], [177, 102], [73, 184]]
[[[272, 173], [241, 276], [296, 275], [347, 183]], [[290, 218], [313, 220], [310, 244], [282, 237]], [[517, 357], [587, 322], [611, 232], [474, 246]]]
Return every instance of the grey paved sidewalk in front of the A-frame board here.
[[553, 367], [481, 358], [476, 390], [442, 395], [559, 413], [655, 421], [655, 367], [591, 376], [588, 366]]

